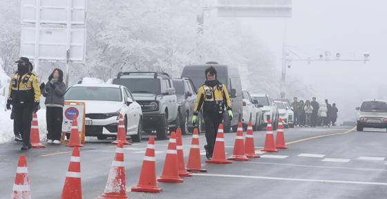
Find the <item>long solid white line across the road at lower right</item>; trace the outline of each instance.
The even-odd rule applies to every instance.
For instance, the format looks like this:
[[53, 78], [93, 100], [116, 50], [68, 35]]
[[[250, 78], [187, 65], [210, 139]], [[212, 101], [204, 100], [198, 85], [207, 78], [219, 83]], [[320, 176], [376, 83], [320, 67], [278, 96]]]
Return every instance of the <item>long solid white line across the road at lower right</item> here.
[[225, 178], [249, 178], [259, 180], [281, 180], [281, 181], [299, 181], [299, 182], [323, 182], [335, 184], [355, 184], [355, 185], [381, 185], [387, 186], [385, 182], [364, 182], [364, 181], [348, 181], [348, 180], [319, 180], [305, 178], [279, 178], [266, 176], [243, 176], [243, 175], [227, 175], [227, 174], [192, 174], [193, 176], [210, 176], [210, 177], [225, 177]]

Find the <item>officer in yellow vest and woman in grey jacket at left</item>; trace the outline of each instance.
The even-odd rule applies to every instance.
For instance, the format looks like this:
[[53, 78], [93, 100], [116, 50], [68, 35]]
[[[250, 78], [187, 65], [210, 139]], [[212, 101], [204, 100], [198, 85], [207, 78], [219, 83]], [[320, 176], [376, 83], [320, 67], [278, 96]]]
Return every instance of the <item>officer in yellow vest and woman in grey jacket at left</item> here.
[[15, 140], [23, 143], [21, 150], [32, 147], [30, 143], [32, 115], [40, 109], [42, 94], [46, 97], [47, 143], [60, 144], [66, 92], [62, 70], [56, 68], [48, 76], [47, 83], [39, 85], [37, 74], [32, 72], [33, 65], [28, 58], [21, 57], [15, 63], [17, 71], [11, 76], [6, 104], [7, 109], [12, 109]]

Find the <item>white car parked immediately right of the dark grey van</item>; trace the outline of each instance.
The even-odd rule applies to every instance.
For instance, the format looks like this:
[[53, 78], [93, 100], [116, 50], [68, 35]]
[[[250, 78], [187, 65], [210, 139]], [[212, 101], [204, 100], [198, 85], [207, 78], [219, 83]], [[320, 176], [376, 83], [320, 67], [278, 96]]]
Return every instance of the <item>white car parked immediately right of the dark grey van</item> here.
[[254, 129], [259, 129], [261, 125], [261, 112], [260, 108], [254, 105], [254, 100], [250, 96], [247, 90], [242, 91], [243, 94], [243, 118], [242, 124], [245, 129], [247, 129], [247, 125], [249, 121], [252, 121], [252, 125]]

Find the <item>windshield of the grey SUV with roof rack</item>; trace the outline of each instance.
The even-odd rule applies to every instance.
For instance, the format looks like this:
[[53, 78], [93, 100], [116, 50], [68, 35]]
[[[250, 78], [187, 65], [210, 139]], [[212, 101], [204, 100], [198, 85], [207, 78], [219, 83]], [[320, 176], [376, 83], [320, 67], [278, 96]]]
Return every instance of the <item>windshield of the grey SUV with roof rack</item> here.
[[132, 93], [161, 94], [158, 78], [115, 78], [113, 84], [124, 85]]

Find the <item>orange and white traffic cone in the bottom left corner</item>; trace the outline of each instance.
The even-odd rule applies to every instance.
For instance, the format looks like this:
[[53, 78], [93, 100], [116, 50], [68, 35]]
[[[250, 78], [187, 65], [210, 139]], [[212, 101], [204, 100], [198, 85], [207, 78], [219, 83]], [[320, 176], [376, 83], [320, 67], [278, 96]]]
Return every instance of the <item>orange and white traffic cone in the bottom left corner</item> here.
[[26, 156], [21, 155], [17, 163], [15, 184], [12, 187], [11, 199], [30, 199], [30, 182], [28, 179], [28, 169]]

